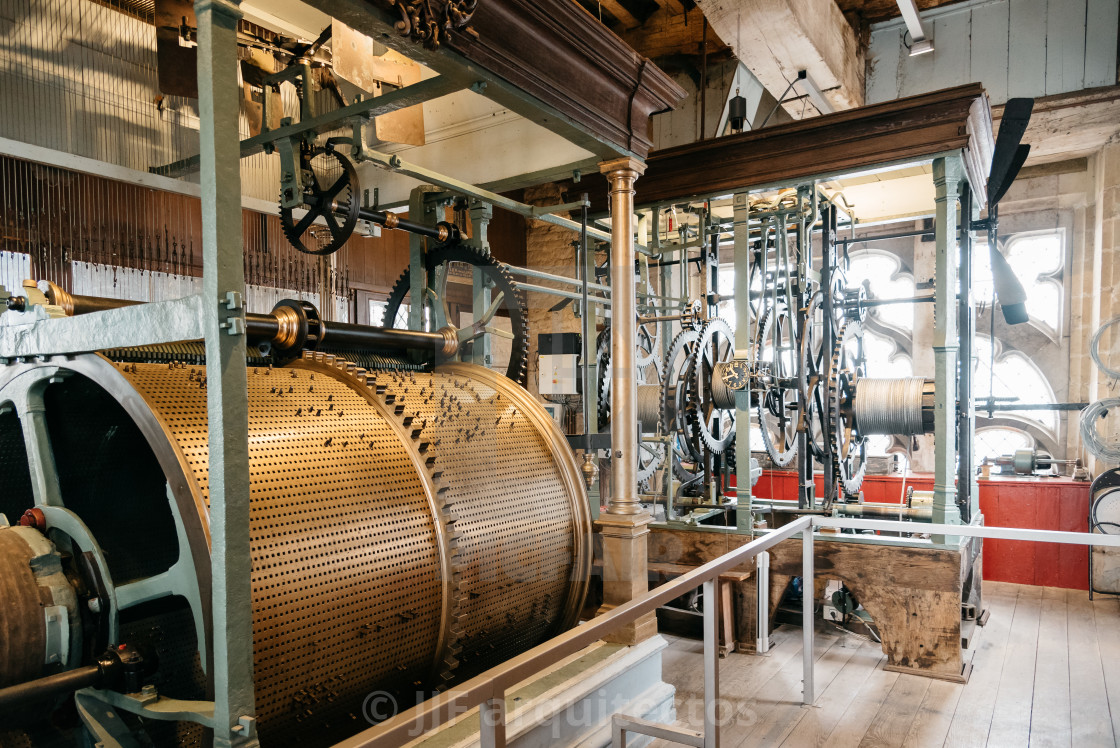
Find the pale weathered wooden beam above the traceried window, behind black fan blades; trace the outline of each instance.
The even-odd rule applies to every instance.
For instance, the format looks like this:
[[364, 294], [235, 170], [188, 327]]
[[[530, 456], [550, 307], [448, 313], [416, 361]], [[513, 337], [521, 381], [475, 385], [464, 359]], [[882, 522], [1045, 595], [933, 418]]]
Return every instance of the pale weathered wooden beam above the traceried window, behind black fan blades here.
[[[1004, 106], [992, 106], [991, 114], [998, 121]], [[1117, 135], [1120, 135], [1120, 85], [1036, 100], [1023, 142], [1030, 144], [1027, 163], [1036, 165], [1088, 156]]]

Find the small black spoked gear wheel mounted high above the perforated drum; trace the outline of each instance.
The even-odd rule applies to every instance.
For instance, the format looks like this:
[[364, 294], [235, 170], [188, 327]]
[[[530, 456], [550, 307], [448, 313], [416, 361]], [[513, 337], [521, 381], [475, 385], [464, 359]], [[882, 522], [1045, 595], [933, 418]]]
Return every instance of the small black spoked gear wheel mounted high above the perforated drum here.
[[[293, 208], [280, 206], [280, 226], [292, 246], [307, 254], [333, 254], [342, 249], [357, 225], [357, 171], [349, 159], [326, 148], [300, 155], [307, 213], [296, 219]], [[321, 223], [319, 223], [321, 219]]]

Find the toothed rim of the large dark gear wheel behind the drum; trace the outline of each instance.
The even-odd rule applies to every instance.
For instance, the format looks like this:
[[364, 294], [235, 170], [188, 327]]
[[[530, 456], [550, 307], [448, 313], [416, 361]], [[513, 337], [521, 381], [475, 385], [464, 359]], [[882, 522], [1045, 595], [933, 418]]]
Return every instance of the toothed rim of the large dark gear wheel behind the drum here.
[[[505, 263], [498, 262], [493, 256], [474, 247], [465, 244], [440, 244], [429, 250], [426, 256], [429, 275], [439, 265], [451, 262], [461, 262], [482, 269], [483, 277], [494, 283], [496, 292], [503, 294], [502, 308], [510, 312], [510, 327], [513, 333], [510, 364], [506, 366], [505, 375], [521, 386], [525, 386], [529, 372], [529, 307], [525, 303], [525, 294], [517, 288], [517, 283], [513, 280]], [[411, 289], [411, 284], [412, 271], [405, 268], [385, 300], [385, 327], [396, 326], [396, 315], [404, 297]], [[413, 299], [412, 303], [417, 303], [417, 300]]]

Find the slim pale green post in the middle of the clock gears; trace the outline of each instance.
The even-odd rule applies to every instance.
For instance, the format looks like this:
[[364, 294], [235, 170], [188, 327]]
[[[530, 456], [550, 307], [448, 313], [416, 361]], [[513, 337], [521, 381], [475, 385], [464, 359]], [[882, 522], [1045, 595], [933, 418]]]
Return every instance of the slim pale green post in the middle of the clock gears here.
[[[735, 263], [735, 357], [752, 364], [750, 349], [750, 204], [746, 193], [732, 198]], [[754, 496], [750, 493], [750, 390], [735, 393], [735, 503], [739, 532], [754, 531]]]

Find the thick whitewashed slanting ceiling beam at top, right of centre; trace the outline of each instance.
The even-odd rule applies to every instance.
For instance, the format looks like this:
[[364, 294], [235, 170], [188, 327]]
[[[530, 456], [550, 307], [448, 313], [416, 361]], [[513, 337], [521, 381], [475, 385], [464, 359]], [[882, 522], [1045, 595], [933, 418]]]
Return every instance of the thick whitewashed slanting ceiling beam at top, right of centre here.
[[[864, 52], [834, 0], [697, 0], [711, 28], [775, 97], [806, 71], [836, 110], [864, 104]], [[795, 87], [791, 96], [805, 94]], [[794, 118], [819, 114], [804, 99], [784, 104]]]

